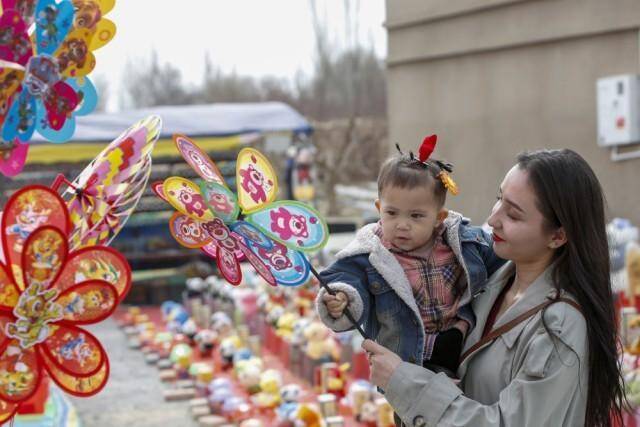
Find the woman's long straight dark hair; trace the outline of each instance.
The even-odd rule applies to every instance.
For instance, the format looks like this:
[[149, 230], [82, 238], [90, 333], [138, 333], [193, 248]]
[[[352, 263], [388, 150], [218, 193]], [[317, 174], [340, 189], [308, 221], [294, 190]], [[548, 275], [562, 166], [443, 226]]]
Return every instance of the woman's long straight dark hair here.
[[548, 229], [563, 227], [567, 243], [556, 250], [554, 286], [573, 295], [587, 323], [589, 385], [585, 426], [622, 425], [627, 407], [618, 357], [615, 309], [605, 233], [605, 201], [589, 164], [571, 150], [518, 156], [529, 174]]

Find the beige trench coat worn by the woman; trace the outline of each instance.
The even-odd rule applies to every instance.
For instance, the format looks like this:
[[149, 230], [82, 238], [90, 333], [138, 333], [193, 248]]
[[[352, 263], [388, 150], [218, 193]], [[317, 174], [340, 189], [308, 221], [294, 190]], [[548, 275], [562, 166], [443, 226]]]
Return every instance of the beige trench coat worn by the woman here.
[[[473, 301], [477, 324], [465, 349], [480, 340], [489, 311], [514, 269], [505, 264]], [[550, 275], [548, 268], [494, 328], [555, 296]], [[464, 360], [459, 387], [444, 374], [403, 362], [385, 396], [407, 426], [583, 426], [589, 377], [584, 317], [558, 302], [547, 308], [544, 319], [560, 340], [545, 331], [538, 312]]]

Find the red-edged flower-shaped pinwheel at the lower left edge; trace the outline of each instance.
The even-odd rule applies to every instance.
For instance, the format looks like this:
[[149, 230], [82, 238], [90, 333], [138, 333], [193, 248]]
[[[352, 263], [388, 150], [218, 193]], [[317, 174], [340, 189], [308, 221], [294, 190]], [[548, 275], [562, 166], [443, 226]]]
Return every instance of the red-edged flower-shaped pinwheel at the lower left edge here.
[[47, 373], [63, 390], [90, 396], [109, 375], [104, 348], [80, 326], [99, 322], [131, 286], [117, 251], [69, 251], [69, 213], [53, 190], [29, 186], [0, 221], [0, 422], [11, 418]]

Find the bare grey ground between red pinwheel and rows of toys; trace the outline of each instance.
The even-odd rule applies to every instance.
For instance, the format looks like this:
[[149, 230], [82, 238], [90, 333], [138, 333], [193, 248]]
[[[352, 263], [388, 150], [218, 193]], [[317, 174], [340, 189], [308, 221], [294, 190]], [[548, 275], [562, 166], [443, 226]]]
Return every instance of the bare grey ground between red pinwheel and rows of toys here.
[[105, 388], [90, 398], [70, 400], [83, 427], [196, 427], [187, 402], [165, 402], [166, 388], [155, 366], [142, 353], [127, 347], [124, 333], [112, 319], [88, 327], [109, 354], [111, 375]]

